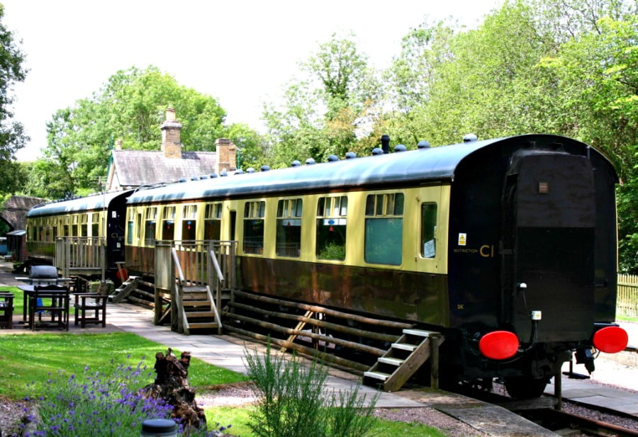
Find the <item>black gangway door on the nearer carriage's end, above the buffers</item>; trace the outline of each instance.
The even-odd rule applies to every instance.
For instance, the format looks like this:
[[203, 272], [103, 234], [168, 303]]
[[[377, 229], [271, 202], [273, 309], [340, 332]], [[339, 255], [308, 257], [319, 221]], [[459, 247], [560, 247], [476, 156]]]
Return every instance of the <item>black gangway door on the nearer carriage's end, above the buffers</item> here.
[[594, 317], [595, 193], [591, 162], [522, 152], [508, 172], [503, 236], [505, 319], [520, 341], [582, 339]]

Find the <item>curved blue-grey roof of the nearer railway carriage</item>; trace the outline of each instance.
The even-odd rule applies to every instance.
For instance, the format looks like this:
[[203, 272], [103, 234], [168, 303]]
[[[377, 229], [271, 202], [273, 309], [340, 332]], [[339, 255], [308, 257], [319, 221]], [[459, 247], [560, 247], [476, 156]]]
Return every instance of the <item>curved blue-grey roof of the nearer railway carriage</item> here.
[[[128, 204], [196, 200], [201, 198], [229, 198], [272, 193], [294, 193], [361, 186], [388, 186], [397, 183], [452, 181], [463, 159], [498, 143], [542, 142], [586, 144], [556, 135], [521, 135], [464, 142], [449, 146], [431, 147], [408, 152], [394, 152], [379, 156], [342, 159], [313, 165], [303, 165], [271, 171], [235, 174], [196, 181], [172, 183], [158, 188], [136, 191]], [[580, 147], [579, 147], [580, 148]]]

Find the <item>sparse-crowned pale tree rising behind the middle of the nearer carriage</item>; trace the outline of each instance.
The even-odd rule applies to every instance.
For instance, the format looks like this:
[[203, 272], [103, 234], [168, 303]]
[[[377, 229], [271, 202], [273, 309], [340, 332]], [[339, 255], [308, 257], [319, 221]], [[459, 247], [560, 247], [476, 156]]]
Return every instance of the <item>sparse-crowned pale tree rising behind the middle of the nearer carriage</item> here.
[[264, 106], [272, 162], [288, 166], [295, 159], [368, 153], [380, 137], [381, 83], [354, 36], [332, 35], [301, 64], [301, 71], [304, 78], [289, 83], [280, 107]]

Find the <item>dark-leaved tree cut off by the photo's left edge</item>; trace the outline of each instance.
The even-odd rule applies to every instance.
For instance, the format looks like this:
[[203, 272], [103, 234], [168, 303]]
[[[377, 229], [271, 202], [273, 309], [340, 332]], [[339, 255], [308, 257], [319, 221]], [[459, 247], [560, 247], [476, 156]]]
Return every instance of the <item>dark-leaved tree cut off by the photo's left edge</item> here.
[[11, 92], [13, 84], [23, 81], [26, 69], [23, 67], [24, 54], [18, 47], [13, 33], [2, 23], [4, 6], [0, 4], [0, 193], [13, 193], [16, 183], [15, 153], [28, 140], [21, 123], [13, 120]]

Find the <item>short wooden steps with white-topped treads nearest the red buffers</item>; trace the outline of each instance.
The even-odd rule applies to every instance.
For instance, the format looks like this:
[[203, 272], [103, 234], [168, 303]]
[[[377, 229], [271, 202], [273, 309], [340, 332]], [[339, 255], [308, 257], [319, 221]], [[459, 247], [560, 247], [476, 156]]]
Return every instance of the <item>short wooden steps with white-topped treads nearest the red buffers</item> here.
[[431, 363], [431, 387], [439, 387], [439, 332], [403, 329], [403, 335], [379, 360], [364, 372], [364, 384], [381, 385], [386, 392], [400, 390], [428, 359]]

